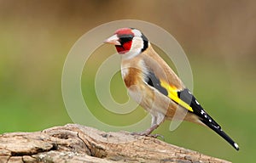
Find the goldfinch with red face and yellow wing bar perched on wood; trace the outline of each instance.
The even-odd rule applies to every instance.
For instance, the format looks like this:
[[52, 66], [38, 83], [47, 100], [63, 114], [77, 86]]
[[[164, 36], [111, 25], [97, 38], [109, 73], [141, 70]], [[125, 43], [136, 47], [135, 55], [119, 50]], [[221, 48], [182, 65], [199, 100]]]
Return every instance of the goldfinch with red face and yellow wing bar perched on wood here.
[[[154, 51], [148, 38], [136, 28], [120, 28], [105, 43], [113, 44], [121, 56], [121, 76], [128, 94], [152, 116], [151, 126], [138, 135], [149, 136], [174, 115], [184, 121], [207, 126], [236, 150], [239, 146], [204, 110], [181, 79]], [[178, 118], [177, 118], [178, 119]]]

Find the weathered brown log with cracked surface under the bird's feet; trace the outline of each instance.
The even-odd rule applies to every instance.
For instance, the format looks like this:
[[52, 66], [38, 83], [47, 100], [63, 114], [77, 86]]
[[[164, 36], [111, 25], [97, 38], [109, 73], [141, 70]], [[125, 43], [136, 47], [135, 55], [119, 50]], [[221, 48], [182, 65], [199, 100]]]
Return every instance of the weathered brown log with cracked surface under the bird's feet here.
[[102, 132], [67, 124], [42, 132], [0, 135], [0, 162], [179, 162], [227, 163], [156, 138]]

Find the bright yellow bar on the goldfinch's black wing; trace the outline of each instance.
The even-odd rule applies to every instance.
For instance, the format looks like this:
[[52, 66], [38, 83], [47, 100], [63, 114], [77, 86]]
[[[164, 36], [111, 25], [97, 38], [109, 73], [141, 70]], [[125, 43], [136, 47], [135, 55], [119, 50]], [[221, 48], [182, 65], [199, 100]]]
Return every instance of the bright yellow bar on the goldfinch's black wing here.
[[168, 97], [175, 101], [177, 104], [183, 106], [183, 108], [193, 112], [194, 110], [189, 106], [189, 104], [185, 103], [181, 98], [177, 97], [177, 88], [169, 85], [167, 82], [160, 80], [160, 85], [166, 88], [168, 92]]

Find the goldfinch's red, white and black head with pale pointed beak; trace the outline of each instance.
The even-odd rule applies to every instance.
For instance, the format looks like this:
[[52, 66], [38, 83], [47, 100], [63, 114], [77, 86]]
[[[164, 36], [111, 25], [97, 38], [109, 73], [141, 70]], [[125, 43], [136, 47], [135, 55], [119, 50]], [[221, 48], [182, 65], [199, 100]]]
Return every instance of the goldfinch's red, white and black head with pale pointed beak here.
[[119, 54], [127, 58], [136, 56], [148, 48], [148, 39], [135, 28], [121, 28], [104, 42], [115, 46]]

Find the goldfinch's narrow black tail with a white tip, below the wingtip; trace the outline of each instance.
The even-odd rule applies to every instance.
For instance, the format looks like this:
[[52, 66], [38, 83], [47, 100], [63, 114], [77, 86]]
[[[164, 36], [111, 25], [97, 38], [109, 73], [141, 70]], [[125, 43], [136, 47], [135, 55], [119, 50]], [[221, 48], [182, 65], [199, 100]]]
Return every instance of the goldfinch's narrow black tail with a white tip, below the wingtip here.
[[[220, 126], [215, 126], [213, 123], [205, 120], [201, 120], [204, 124], [210, 127], [214, 132], [218, 133], [219, 136], [224, 138], [227, 142], [230, 143], [236, 150], [239, 150], [238, 144], [232, 140], [222, 129]], [[217, 123], [216, 123], [217, 124]]]

